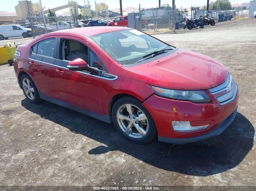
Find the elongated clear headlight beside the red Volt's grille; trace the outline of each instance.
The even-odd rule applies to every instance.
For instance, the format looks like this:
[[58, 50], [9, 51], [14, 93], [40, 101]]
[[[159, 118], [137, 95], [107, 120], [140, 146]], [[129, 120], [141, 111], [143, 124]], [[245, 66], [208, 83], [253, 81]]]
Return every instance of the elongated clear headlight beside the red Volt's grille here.
[[211, 99], [203, 90], [170, 90], [165, 88], [160, 88], [156, 86], [150, 86], [152, 90], [159, 96], [169, 98], [169, 99], [177, 99], [177, 100], [185, 100], [192, 102], [210, 102]]

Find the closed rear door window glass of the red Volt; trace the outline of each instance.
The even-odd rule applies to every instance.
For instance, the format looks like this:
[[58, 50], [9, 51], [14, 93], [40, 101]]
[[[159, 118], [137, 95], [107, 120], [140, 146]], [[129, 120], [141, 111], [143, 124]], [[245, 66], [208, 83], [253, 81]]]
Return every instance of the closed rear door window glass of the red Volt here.
[[53, 58], [54, 48], [55, 48], [55, 38], [42, 40], [38, 42], [36, 54]]

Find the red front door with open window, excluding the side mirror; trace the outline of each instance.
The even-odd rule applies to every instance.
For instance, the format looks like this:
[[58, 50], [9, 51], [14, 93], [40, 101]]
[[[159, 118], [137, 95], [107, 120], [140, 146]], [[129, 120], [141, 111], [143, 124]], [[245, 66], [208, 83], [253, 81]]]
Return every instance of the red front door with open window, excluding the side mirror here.
[[[100, 72], [92, 75], [87, 71], [71, 71], [67, 65], [76, 58], [82, 58], [88, 65], [100, 63], [100, 55], [86, 41], [61, 36], [58, 40], [59, 59], [55, 62], [55, 77], [63, 102], [82, 108], [94, 114], [103, 115]], [[86, 46], [87, 45], [87, 46]], [[95, 63], [95, 62], [94, 62]]]

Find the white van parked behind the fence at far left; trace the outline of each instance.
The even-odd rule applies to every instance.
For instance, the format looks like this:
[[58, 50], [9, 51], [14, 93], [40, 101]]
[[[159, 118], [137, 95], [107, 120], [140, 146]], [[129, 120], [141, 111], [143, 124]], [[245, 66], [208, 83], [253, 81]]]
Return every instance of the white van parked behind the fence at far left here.
[[21, 37], [24, 38], [32, 36], [31, 29], [25, 28], [20, 25], [1, 25], [0, 26], [0, 40], [8, 39], [11, 37]]

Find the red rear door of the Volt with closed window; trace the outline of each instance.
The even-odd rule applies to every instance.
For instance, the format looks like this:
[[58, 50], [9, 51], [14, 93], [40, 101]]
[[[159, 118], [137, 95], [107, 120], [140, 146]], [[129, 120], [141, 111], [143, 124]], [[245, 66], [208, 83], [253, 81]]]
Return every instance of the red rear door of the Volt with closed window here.
[[38, 91], [59, 100], [54, 69], [57, 37], [46, 37], [31, 45], [28, 52], [28, 68]]

